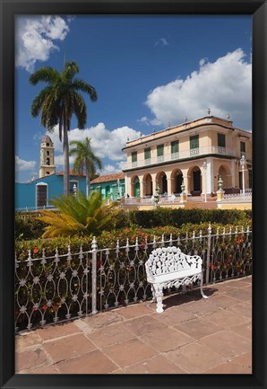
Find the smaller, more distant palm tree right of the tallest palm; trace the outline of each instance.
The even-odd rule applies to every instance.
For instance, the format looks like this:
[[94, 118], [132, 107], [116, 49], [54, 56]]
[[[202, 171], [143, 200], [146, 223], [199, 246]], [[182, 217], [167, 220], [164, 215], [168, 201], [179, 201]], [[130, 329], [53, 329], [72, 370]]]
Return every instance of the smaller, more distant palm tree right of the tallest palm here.
[[70, 150], [70, 155], [76, 155], [73, 164], [73, 171], [78, 173], [84, 173], [86, 175], [86, 197], [90, 194], [90, 180], [93, 175], [96, 174], [96, 165], [99, 169], [102, 169], [102, 163], [98, 156], [94, 155], [91, 146], [90, 138], [86, 137], [85, 140], [73, 140], [70, 142], [70, 146], [74, 146]]

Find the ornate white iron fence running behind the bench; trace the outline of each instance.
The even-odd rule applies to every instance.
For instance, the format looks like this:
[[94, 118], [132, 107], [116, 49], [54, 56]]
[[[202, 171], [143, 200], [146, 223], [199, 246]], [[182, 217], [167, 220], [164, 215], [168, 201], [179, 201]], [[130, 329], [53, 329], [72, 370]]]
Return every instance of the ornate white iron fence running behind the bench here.
[[252, 231], [218, 229], [169, 239], [145, 240], [115, 248], [98, 248], [93, 239], [91, 250], [15, 261], [16, 331], [30, 330], [49, 323], [65, 322], [88, 314], [129, 305], [151, 298], [151, 287], [144, 268], [151, 251], [175, 245], [186, 254], [197, 254], [203, 261], [206, 284], [252, 273]]

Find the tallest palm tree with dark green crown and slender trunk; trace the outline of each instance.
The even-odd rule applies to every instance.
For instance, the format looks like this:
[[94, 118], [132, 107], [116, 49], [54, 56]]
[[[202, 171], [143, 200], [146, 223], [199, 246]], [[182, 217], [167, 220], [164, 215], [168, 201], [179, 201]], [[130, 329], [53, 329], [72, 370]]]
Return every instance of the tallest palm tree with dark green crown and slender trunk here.
[[98, 95], [96, 90], [85, 81], [74, 78], [79, 73], [76, 62], [65, 62], [62, 73], [52, 67], [42, 67], [30, 75], [30, 84], [39, 82], [47, 84], [34, 98], [30, 113], [36, 118], [41, 113], [41, 125], [53, 132], [55, 126], [59, 126], [59, 139], [62, 141], [64, 154], [64, 194], [69, 193], [69, 142], [68, 131], [71, 126], [73, 114], [78, 120], [78, 128], [83, 129], [86, 124], [87, 112], [82, 94], [87, 93], [91, 102], [96, 102]]

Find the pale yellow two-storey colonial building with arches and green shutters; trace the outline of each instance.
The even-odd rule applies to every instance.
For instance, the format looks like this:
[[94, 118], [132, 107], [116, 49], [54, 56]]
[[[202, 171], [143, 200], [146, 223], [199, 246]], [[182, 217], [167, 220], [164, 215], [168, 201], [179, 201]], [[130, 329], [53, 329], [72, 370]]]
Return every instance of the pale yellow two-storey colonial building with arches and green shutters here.
[[[181, 193], [187, 197], [213, 198], [252, 188], [252, 133], [233, 126], [229, 116], [208, 115], [128, 141], [125, 195], [149, 198]], [[243, 156], [243, 159], [242, 158]], [[242, 166], [243, 164], [243, 166]]]

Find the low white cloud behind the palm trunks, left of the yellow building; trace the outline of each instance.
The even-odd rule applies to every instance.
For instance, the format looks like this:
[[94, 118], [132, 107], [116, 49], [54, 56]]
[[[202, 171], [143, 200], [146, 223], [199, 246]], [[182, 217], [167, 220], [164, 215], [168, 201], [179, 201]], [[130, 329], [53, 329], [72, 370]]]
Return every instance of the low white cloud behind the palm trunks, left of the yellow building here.
[[[104, 123], [99, 123], [95, 127], [71, 129], [68, 133], [69, 142], [72, 140], [84, 140], [85, 137], [90, 137], [91, 147], [95, 155], [99, 156], [101, 160], [104, 158], [110, 162], [103, 169], [103, 172], [113, 172], [111, 169], [116, 169], [114, 172], [121, 171], [121, 164], [125, 163], [125, 154], [122, 148], [126, 146], [126, 141], [136, 139], [140, 136], [139, 131], [127, 126], [108, 130]], [[63, 165], [62, 143], [58, 137], [58, 126], [56, 126], [54, 133], [49, 134], [55, 146], [55, 164], [56, 166]], [[70, 164], [73, 164], [74, 157], [70, 157]], [[101, 173], [103, 173], [101, 172]]]

